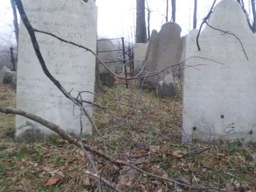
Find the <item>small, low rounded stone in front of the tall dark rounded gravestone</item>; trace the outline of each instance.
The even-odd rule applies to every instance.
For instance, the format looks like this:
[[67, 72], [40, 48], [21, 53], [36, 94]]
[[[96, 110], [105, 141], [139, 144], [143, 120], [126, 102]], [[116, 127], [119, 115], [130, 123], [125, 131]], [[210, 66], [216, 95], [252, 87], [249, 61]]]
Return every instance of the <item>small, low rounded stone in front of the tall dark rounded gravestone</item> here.
[[158, 82], [157, 85], [157, 96], [164, 97], [173, 97], [176, 96], [177, 92], [177, 83], [173, 78], [173, 74], [165, 74], [164, 78]]

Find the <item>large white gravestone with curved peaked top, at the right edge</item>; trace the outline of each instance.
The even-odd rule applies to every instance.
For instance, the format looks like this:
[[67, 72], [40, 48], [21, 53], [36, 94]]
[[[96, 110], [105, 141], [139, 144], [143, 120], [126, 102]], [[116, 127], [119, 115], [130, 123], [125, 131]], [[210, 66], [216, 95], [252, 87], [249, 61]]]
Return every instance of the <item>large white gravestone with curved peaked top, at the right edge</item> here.
[[209, 25], [222, 31], [206, 26], [199, 52], [197, 33], [187, 36], [183, 140], [256, 142], [255, 34], [233, 0], [217, 4]]

